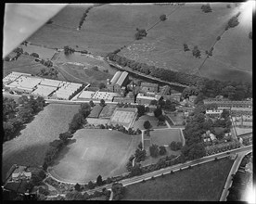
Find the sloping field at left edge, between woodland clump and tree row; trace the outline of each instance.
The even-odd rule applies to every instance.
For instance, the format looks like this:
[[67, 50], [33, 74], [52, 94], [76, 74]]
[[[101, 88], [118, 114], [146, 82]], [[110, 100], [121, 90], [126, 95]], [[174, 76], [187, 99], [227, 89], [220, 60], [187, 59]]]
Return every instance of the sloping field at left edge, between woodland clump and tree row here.
[[68, 130], [69, 122], [78, 109], [78, 105], [48, 105], [27, 124], [19, 137], [5, 142], [2, 152], [2, 178], [5, 178], [6, 172], [15, 163], [43, 165], [48, 143]]

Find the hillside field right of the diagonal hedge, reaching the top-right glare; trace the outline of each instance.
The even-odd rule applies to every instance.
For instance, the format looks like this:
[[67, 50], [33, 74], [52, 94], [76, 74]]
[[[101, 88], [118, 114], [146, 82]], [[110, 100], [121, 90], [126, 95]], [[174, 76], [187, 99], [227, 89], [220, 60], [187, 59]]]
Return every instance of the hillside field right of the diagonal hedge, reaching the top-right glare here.
[[[215, 45], [213, 57], [208, 59], [200, 72], [210, 78], [251, 82], [252, 78], [252, 41], [251, 14], [241, 10], [237, 27], [224, 33]], [[252, 83], [252, 82], [251, 82]]]

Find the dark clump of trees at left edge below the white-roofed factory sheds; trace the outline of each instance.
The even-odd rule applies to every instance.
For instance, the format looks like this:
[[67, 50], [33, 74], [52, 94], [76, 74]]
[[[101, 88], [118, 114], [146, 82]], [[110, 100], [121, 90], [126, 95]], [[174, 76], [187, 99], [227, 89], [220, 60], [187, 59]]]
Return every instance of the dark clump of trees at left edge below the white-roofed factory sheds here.
[[35, 114], [45, 107], [44, 97], [34, 98], [21, 96], [18, 103], [12, 98], [4, 97], [3, 101], [3, 121], [4, 121], [4, 141], [10, 140], [17, 135], [21, 127], [30, 121]]

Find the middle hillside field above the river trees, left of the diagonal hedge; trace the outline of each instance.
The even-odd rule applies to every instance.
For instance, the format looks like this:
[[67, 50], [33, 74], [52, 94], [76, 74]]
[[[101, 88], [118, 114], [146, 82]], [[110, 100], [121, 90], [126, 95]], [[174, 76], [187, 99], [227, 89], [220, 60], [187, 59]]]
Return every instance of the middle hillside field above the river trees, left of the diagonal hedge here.
[[[224, 31], [224, 24], [232, 14], [232, 8], [227, 9], [225, 4], [212, 5], [211, 13], [203, 13], [201, 5], [186, 4], [180, 7], [167, 20], [149, 30], [144, 40], [137, 41], [134, 45], [151, 45], [151, 51], [145, 50], [141, 53], [140, 49], [137, 52], [124, 49], [123, 54], [127, 57], [139, 54], [139, 61], [165, 69], [193, 72], [203, 58], [193, 57], [191, 51], [184, 52], [183, 44], [186, 43], [190, 50], [194, 45], [198, 45], [204, 57], [205, 50], [209, 49], [216, 37]], [[133, 49], [133, 46], [131, 48]]]

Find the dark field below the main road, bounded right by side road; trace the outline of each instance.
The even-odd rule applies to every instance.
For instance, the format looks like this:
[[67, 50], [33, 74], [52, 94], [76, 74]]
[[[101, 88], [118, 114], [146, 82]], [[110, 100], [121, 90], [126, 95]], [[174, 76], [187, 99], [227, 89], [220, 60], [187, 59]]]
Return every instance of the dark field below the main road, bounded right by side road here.
[[128, 185], [122, 200], [219, 201], [232, 165], [225, 158]]

